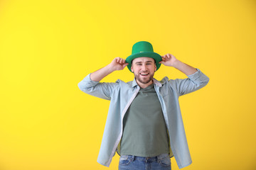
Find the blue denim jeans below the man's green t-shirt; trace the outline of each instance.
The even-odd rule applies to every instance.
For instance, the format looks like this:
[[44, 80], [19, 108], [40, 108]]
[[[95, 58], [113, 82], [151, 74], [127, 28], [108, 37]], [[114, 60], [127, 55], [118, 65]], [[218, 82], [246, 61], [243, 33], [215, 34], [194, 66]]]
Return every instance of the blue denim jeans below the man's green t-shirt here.
[[119, 170], [171, 170], [169, 154], [160, 154], [157, 157], [137, 157], [122, 155], [119, 159]]

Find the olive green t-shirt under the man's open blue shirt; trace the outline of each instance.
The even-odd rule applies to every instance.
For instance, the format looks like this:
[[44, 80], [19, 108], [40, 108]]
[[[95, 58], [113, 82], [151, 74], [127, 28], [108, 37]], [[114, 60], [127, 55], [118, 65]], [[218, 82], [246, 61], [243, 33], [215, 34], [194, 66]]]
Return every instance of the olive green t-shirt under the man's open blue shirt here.
[[123, 121], [120, 155], [155, 157], [169, 154], [166, 124], [154, 84], [139, 90]]

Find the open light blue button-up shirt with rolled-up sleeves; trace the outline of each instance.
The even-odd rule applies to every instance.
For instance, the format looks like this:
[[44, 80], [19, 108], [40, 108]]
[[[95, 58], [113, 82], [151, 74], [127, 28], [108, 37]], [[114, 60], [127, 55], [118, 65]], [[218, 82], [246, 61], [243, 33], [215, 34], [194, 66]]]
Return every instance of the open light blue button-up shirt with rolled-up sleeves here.
[[[164, 77], [161, 81], [156, 79], [153, 81], [161, 103], [166, 128], [169, 131], [171, 152], [174, 154], [178, 168], [181, 169], [190, 165], [192, 160], [178, 97], [206, 86], [209, 78], [197, 69], [196, 73], [188, 75], [186, 79], [169, 80], [168, 77]], [[98, 163], [109, 167], [122, 137], [124, 114], [137, 96], [140, 87], [135, 79], [127, 83], [120, 79], [117, 79], [115, 83], [100, 83], [92, 81], [90, 74], [78, 83], [78, 87], [86, 94], [110, 100], [110, 109], [97, 158]]]

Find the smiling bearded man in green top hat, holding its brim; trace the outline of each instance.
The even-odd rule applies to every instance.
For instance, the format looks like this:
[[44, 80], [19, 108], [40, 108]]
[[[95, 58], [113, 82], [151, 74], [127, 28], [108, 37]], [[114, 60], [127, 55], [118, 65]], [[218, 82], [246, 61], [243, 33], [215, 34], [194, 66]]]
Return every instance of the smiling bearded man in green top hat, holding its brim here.
[[[188, 76], [187, 79], [154, 79], [164, 64]], [[108, 74], [128, 67], [134, 80], [100, 83]], [[192, 163], [183, 127], [178, 97], [201, 89], [208, 77], [174, 55], [161, 56], [152, 45], [133, 45], [126, 60], [114, 58], [110, 64], [87, 75], [78, 84], [81, 91], [110, 100], [105, 132], [97, 162], [110, 166], [115, 152], [119, 169], [171, 169], [175, 157], [179, 169]]]

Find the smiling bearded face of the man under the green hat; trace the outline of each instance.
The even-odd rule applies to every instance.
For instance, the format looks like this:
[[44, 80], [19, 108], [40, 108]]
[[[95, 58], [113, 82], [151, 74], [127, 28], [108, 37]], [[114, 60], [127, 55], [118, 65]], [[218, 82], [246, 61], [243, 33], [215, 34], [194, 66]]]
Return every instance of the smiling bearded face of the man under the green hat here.
[[156, 64], [150, 57], [139, 57], [132, 60], [131, 70], [139, 86], [148, 86], [153, 83]]

